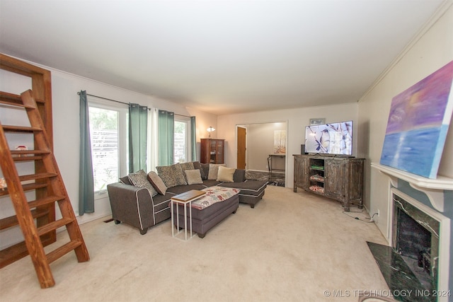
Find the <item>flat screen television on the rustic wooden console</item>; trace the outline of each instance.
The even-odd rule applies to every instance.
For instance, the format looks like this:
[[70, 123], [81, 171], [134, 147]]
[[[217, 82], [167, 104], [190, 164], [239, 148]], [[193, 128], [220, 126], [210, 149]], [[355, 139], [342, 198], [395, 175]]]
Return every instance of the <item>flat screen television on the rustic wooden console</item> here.
[[352, 121], [305, 127], [305, 153], [352, 155]]

